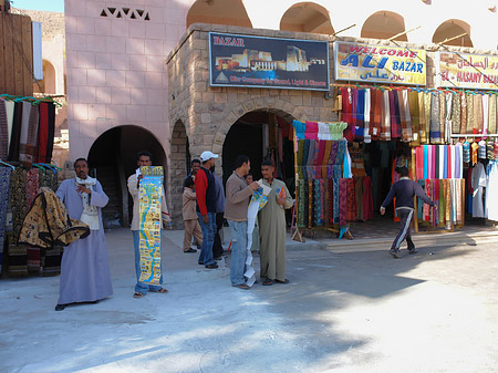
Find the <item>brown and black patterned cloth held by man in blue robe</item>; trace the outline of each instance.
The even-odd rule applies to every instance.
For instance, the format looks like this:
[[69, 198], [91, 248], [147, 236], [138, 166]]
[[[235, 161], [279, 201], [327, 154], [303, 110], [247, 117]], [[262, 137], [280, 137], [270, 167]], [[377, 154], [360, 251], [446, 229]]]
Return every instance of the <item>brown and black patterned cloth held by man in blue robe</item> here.
[[22, 222], [19, 245], [38, 248], [68, 246], [89, 235], [89, 226], [80, 220], [71, 219], [64, 204], [55, 196], [55, 193], [42, 187]]

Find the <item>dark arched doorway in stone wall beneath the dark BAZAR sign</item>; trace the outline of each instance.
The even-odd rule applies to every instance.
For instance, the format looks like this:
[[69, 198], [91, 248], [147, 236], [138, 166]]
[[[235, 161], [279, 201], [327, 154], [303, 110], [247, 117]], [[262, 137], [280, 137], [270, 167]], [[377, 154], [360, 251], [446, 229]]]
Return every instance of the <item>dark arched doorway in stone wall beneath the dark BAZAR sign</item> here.
[[292, 120], [292, 115], [271, 108], [252, 111], [239, 117], [228, 131], [222, 146], [224, 183], [234, 170], [235, 158], [245, 154], [251, 160], [251, 174], [256, 180], [261, 178], [261, 162], [272, 159], [277, 178], [284, 180], [293, 194]]

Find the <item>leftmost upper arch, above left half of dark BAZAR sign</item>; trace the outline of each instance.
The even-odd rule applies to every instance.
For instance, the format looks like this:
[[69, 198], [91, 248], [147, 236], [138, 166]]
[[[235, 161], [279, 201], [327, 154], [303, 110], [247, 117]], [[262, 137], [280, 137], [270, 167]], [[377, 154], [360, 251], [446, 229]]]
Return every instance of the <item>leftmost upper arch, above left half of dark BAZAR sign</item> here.
[[188, 11], [187, 29], [198, 22], [252, 28], [241, 0], [197, 0]]

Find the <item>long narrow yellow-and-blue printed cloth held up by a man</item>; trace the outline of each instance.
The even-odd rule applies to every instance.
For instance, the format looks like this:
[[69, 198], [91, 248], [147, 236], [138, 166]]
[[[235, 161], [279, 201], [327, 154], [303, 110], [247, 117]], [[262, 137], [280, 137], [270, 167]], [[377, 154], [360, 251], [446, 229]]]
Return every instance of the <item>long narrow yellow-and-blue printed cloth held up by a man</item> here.
[[160, 284], [160, 194], [163, 167], [141, 167], [139, 186], [139, 281]]

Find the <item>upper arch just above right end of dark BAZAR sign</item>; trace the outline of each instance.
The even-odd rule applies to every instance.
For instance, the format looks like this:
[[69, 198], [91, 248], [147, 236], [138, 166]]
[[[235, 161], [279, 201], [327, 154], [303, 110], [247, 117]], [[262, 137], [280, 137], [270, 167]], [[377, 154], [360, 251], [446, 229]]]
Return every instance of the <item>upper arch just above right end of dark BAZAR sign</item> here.
[[300, 2], [289, 8], [280, 20], [280, 30], [334, 33], [329, 11], [314, 2]]

